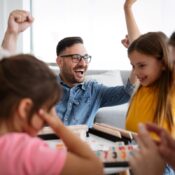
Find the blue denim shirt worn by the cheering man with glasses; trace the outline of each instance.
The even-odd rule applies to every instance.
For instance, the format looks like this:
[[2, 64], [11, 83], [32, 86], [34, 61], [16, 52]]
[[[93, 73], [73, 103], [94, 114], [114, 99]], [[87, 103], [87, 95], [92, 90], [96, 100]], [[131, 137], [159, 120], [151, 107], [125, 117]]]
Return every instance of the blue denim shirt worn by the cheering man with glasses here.
[[[56, 105], [56, 112], [65, 125], [87, 124], [92, 127], [97, 110], [129, 101], [134, 86], [107, 87], [96, 81], [85, 81], [72, 88], [58, 77], [63, 96]], [[108, 117], [108, 116], [106, 116]]]

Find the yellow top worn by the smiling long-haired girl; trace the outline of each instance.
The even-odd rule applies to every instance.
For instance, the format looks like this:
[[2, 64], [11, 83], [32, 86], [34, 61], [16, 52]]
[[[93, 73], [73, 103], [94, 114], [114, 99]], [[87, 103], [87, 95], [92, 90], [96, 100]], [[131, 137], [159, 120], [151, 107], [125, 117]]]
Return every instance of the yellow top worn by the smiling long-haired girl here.
[[[175, 121], [175, 98], [172, 99], [172, 113]], [[126, 118], [126, 129], [137, 132], [139, 123], [153, 123], [156, 103], [156, 90], [151, 87], [140, 87], [131, 100]], [[162, 121], [160, 126], [169, 131], [166, 121]], [[175, 138], [175, 126], [171, 135]]]

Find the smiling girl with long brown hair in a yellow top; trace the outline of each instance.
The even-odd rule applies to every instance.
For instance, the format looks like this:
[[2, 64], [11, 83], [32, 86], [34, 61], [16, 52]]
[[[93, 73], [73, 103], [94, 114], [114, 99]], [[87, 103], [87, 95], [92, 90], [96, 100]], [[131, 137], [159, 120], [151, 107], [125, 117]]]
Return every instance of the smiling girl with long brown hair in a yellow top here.
[[149, 32], [128, 48], [128, 56], [140, 81], [126, 119], [126, 129], [138, 131], [138, 123], [156, 123], [175, 136], [175, 101], [173, 62], [170, 61], [167, 37], [162, 32]]

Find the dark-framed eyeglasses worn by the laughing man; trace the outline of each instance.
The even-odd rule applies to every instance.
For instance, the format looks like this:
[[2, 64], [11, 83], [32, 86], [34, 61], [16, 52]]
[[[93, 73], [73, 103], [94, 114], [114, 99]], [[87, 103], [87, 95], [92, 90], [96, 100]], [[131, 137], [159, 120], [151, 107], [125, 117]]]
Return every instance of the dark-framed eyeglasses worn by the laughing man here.
[[66, 57], [71, 57], [72, 61], [74, 63], [79, 63], [82, 59], [86, 62], [86, 63], [90, 63], [91, 61], [91, 56], [88, 54], [85, 55], [79, 55], [79, 54], [70, 54], [70, 55], [61, 55], [60, 57], [66, 58]]

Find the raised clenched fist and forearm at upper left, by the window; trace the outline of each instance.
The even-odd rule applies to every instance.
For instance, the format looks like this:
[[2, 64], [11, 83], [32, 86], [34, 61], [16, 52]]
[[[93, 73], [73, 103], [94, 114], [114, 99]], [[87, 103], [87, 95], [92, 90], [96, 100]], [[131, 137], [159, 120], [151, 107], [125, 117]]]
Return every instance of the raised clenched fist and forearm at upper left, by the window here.
[[33, 20], [31, 14], [24, 10], [14, 10], [10, 13], [7, 30], [2, 42], [2, 54], [4, 53], [7, 56], [16, 52], [19, 34], [31, 26]]

